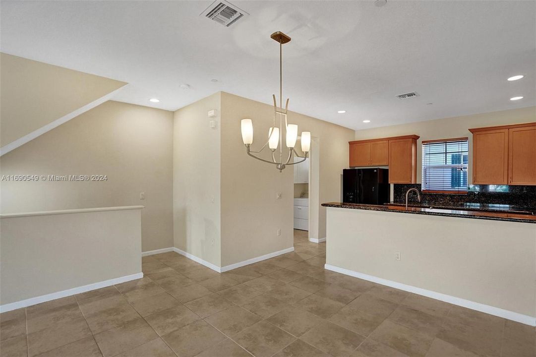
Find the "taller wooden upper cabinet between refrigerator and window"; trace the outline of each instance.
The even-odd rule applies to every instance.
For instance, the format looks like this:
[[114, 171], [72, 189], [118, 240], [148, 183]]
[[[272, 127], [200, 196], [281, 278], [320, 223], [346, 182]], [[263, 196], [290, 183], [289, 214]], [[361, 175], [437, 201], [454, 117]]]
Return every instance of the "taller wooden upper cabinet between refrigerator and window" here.
[[389, 183], [416, 183], [416, 140], [389, 140]]

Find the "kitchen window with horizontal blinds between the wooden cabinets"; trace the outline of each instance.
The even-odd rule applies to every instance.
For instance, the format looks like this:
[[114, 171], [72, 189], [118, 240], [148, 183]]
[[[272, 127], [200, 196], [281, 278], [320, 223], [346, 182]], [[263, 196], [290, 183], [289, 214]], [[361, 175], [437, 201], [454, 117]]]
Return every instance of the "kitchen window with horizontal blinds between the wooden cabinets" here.
[[422, 142], [422, 190], [467, 192], [467, 138]]

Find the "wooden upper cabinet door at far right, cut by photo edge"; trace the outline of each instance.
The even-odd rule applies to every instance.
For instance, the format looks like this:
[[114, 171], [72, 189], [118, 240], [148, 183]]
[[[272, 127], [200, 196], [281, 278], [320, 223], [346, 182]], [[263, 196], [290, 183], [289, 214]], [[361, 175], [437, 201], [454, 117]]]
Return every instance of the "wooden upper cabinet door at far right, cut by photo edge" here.
[[536, 185], [536, 127], [509, 129], [508, 182]]

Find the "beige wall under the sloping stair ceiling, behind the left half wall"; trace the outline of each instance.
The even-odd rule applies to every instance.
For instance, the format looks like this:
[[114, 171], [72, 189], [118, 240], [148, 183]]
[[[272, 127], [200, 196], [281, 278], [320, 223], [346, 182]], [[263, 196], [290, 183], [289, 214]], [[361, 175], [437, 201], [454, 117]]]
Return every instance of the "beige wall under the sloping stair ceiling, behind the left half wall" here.
[[0, 173], [108, 181], [2, 181], [2, 213], [141, 204], [143, 251], [172, 247], [172, 140], [172, 112], [105, 102], [3, 155]]

